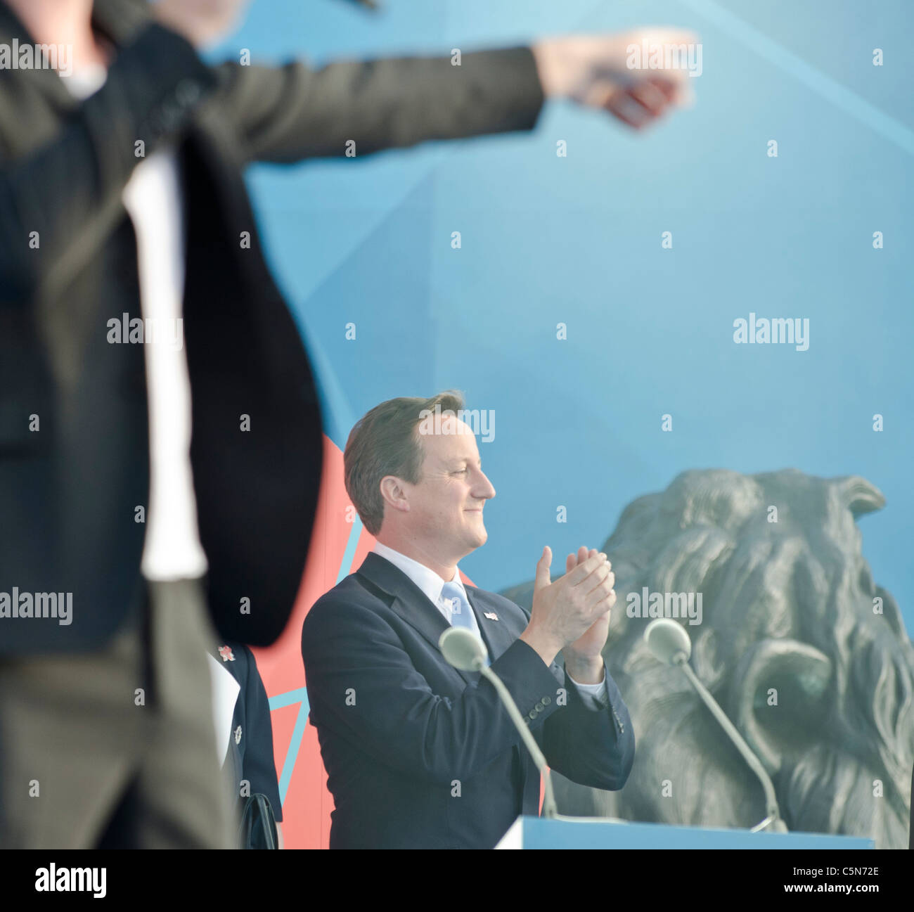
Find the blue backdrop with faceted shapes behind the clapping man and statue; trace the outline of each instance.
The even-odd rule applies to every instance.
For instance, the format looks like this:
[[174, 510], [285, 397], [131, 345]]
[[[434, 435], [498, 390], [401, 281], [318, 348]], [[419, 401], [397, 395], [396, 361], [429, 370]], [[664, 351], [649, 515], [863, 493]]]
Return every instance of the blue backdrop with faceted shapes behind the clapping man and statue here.
[[[461, 565], [485, 589], [532, 578], [544, 544], [558, 564], [599, 546], [625, 504], [685, 469], [858, 473], [888, 502], [860, 521], [864, 556], [914, 629], [914, 5], [385, 3], [372, 16], [260, 0], [213, 57], [320, 63], [675, 25], [699, 33], [703, 73], [696, 107], [644, 134], [551, 104], [532, 134], [252, 169], [333, 440], [393, 396], [458, 387], [494, 409], [489, 542]], [[809, 349], [735, 345], [750, 312], [808, 318]]]

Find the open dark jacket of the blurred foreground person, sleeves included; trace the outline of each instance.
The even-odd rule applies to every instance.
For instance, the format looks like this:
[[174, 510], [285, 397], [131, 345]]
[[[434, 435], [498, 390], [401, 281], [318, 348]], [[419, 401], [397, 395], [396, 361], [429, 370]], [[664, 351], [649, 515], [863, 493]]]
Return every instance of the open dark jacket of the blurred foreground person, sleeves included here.
[[[121, 198], [140, 140], [145, 155], [175, 143], [183, 173], [190, 458], [213, 621], [269, 644], [302, 578], [323, 438], [242, 168], [344, 155], [349, 140], [361, 155], [529, 129], [543, 102], [533, 56], [210, 68], [137, 0], [97, 0], [93, 15], [118, 53], [89, 99], [50, 69], [0, 70], [0, 591], [71, 592], [73, 606], [69, 626], [0, 619], [0, 652], [97, 648], [139, 598], [143, 345], [106, 338], [112, 317], [141, 316]], [[34, 44], [0, 4], [0, 42], [14, 38]]]

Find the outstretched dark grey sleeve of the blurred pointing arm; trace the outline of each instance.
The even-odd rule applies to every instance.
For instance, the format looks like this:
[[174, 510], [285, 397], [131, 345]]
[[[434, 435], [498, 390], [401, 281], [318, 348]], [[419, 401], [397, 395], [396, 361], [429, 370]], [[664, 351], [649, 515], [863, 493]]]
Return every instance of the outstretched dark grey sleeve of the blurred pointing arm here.
[[222, 101], [247, 160], [356, 156], [425, 140], [529, 130], [543, 91], [529, 48], [450, 57], [330, 63], [310, 69], [223, 64]]

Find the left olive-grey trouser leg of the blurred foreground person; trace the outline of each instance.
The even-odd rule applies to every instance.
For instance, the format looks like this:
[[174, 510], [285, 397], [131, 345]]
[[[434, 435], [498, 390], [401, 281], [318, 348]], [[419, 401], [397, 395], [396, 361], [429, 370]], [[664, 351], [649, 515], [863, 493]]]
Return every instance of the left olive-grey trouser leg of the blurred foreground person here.
[[149, 749], [143, 686], [129, 624], [97, 652], [0, 660], [0, 845], [96, 842]]

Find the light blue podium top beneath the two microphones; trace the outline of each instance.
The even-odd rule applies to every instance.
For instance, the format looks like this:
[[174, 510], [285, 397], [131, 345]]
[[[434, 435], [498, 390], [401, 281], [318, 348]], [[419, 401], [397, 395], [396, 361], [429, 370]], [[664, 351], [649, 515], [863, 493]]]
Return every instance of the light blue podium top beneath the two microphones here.
[[872, 839], [821, 832], [750, 832], [602, 817], [518, 817], [496, 849], [872, 849]]

